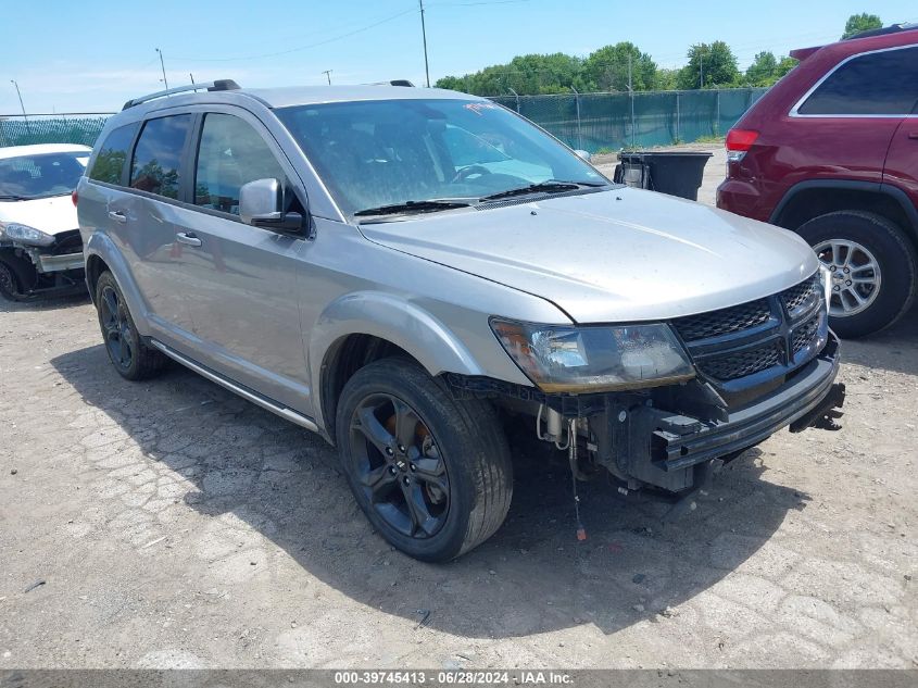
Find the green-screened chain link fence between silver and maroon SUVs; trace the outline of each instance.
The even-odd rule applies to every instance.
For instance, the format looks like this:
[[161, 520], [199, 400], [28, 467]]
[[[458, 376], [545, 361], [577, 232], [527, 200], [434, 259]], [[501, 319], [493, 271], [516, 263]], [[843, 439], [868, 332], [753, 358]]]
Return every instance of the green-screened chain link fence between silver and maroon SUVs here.
[[724, 136], [768, 89], [562, 93], [491, 98], [591, 153]]

